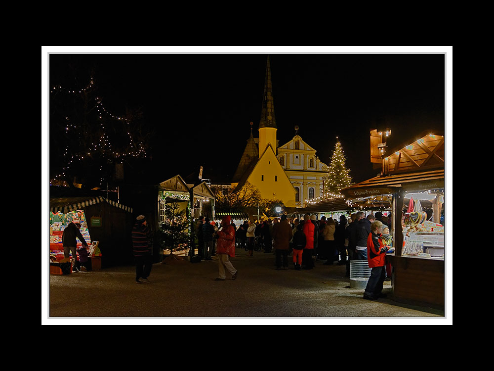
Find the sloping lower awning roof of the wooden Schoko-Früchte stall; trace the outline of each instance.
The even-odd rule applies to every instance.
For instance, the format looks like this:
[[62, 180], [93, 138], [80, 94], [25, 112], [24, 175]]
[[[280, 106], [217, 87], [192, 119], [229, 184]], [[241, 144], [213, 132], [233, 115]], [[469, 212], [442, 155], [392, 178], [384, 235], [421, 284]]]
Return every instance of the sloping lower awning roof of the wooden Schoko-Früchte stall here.
[[354, 198], [433, 188], [444, 188], [444, 169], [379, 176], [344, 188], [341, 193]]

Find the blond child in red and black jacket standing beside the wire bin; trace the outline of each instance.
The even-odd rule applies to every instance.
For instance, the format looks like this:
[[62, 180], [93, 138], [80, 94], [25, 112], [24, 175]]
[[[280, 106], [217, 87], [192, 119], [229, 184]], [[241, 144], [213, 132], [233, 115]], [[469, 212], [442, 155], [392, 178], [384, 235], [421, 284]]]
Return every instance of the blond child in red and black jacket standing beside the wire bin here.
[[382, 293], [382, 284], [386, 278], [385, 258], [388, 248], [381, 238], [382, 223], [378, 220], [371, 224], [371, 234], [367, 238], [367, 261], [371, 269], [371, 277], [367, 282], [364, 299], [376, 300], [387, 295]]

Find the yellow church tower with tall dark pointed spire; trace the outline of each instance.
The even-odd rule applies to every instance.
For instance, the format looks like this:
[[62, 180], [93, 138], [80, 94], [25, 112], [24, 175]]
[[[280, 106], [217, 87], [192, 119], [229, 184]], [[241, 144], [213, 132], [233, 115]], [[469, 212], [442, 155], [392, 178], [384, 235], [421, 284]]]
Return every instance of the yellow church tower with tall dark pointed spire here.
[[266, 65], [266, 80], [264, 82], [264, 96], [262, 99], [261, 120], [259, 122], [259, 157], [264, 153], [269, 144], [276, 154], [276, 118], [273, 104], [273, 87], [271, 85], [271, 66]]

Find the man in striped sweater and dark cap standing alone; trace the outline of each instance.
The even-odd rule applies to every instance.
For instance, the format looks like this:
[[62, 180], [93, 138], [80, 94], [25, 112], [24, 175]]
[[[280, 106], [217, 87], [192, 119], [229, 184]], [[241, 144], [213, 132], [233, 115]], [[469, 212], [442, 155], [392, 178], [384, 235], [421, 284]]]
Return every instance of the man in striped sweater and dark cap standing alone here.
[[149, 283], [148, 277], [153, 266], [150, 235], [146, 217], [139, 215], [132, 229], [132, 248], [136, 261], [135, 283]]

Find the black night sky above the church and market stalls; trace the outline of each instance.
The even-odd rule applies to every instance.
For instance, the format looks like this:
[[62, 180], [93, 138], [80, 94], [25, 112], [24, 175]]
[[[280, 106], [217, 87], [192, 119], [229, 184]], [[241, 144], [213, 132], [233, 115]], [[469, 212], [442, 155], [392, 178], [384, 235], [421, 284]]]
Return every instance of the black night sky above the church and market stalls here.
[[[371, 129], [390, 128], [391, 149], [425, 130], [445, 132], [444, 54], [269, 55], [280, 145], [298, 125], [329, 164], [338, 137], [355, 182], [379, 172], [370, 162]], [[204, 166], [203, 178], [226, 181], [250, 121], [258, 136], [266, 60], [267, 53], [50, 54], [49, 86], [76, 89], [92, 76], [107, 110], [142, 110], [155, 133], [158, 180]]]

